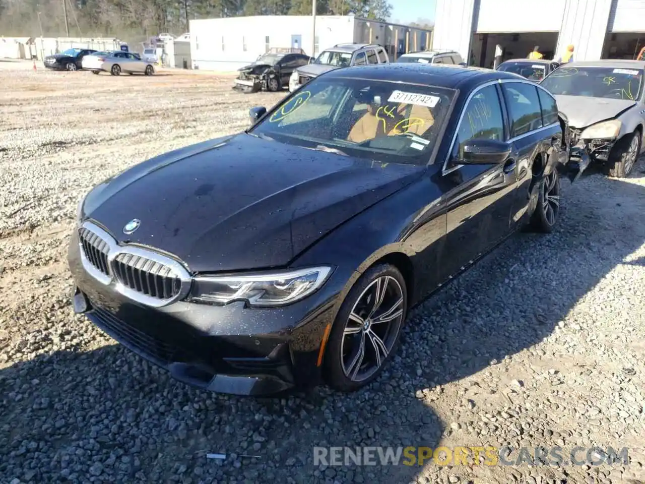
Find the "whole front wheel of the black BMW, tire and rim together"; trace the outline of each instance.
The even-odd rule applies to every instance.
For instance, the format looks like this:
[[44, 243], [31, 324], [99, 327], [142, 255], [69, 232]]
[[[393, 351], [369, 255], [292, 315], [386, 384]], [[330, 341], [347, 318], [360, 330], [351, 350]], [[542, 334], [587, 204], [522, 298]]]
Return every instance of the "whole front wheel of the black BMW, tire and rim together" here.
[[[382, 297], [375, 307], [377, 294]], [[353, 392], [377, 378], [397, 350], [407, 309], [401, 272], [390, 264], [368, 269], [353, 285], [333, 323], [324, 355], [328, 385]], [[379, 322], [379, 318], [387, 319]]]

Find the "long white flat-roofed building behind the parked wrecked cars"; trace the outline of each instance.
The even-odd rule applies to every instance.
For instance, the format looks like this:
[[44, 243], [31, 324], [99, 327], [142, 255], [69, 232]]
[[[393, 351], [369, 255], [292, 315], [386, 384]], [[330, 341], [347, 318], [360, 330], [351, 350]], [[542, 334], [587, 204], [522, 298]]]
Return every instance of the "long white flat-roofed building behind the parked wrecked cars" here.
[[[257, 15], [190, 21], [190, 52], [195, 69], [237, 70], [272, 47], [302, 48], [315, 56], [344, 42], [385, 46], [396, 52], [423, 50], [432, 42], [429, 30], [420, 30], [353, 17], [317, 15], [315, 46], [310, 15]], [[313, 52], [312, 52], [313, 49]]]

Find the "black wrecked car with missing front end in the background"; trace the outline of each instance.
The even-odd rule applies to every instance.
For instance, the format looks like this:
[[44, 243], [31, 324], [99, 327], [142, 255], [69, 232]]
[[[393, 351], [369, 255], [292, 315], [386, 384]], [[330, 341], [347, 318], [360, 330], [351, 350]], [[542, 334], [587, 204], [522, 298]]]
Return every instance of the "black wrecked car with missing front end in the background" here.
[[233, 89], [243, 92], [277, 92], [289, 84], [289, 78], [296, 68], [310, 63], [311, 57], [304, 52], [269, 52], [238, 69]]

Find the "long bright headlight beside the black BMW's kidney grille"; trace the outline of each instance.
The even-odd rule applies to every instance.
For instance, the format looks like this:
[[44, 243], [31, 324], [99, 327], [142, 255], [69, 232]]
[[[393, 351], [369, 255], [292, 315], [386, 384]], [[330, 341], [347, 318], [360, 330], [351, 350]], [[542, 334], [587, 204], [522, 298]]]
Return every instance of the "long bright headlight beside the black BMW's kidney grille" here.
[[250, 306], [284, 306], [321, 287], [331, 267], [309, 267], [239, 276], [198, 276], [190, 300], [198, 303], [228, 304], [246, 301]]

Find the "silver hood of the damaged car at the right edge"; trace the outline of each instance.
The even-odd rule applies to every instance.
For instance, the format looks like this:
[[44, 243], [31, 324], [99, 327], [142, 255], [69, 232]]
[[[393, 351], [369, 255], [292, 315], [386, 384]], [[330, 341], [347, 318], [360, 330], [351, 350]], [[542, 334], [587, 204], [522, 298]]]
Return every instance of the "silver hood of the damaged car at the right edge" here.
[[572, 128], [586, 128], [605, 119], [612, 119], [635, 105], [634, 101], [604, 97], [554, 96], [558, 109], [569, 118]]

